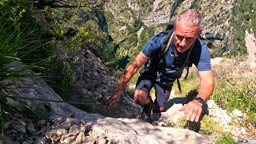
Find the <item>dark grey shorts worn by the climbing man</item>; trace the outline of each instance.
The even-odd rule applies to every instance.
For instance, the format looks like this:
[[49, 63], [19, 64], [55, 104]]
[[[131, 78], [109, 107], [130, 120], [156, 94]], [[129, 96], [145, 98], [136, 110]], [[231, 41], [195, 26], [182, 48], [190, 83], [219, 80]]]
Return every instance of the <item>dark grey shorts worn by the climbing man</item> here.
[[150, 80], [150, 78], [146, 78], [141, 75], [138, 77], [135, 90], [143, 90], [149, 95], [150, 90], [153, 87], [156, 95], [155, 103], [157, 104], [157, 106], [164, 107], [165, 103], [168, 101], [170, 97], [171, 86], [159, 85], [154, 80]]

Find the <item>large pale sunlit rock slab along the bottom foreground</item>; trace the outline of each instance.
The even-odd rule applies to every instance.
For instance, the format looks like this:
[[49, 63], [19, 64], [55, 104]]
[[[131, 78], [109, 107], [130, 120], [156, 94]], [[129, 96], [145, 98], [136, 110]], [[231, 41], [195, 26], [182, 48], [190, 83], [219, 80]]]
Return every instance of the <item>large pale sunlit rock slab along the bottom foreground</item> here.
[[135, 118], [102, 118], [94, 123], [92, 130], [106, 134], [110, 143], [209, 143], [214, 140], [190, 130], [152, 126]]

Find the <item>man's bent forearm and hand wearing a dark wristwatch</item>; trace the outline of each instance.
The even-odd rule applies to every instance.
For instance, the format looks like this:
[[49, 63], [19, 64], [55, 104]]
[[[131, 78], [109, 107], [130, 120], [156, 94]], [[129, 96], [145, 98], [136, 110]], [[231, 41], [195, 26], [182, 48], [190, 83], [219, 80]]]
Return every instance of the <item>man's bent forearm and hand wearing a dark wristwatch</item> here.
[[[200, 78], [200, 88], [198, 90], [197, 97], [201, 97], [206, 101], [214, 91], [214, 74], [212, 70], [199, 71], [198, 74]], [[185, 110], [184, 114], [186, 116], [186, 120], [198, 122], [202, 113], [202, 103], [194, 99], [180, 109], [180, 111], [183, 110]]]

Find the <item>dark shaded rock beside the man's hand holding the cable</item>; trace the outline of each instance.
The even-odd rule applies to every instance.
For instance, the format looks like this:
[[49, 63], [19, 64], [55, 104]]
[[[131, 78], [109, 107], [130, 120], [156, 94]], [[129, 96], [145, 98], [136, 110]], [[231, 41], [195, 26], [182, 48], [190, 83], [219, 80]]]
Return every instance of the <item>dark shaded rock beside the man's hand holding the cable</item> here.
[[[126, 94], [122, 94], [115, 106], [108, 106], [110, 95], [114, 94], [117, 83], [110, 76], [110, 71], [102, 65], [89, 50], [74, 52], [78, 62], [74, 64], [77, 82], [70, 91], [70, 99], [74, 102], [84, 102], [90, 107], [92, 113], [114, 118], [138, 118], [142, 108]], [[72, 57], [72, 54], [70, 54]], [[85, 69], [90, 67], [90, 69]], [[79, 106], [78, 106], [79, 107]]]

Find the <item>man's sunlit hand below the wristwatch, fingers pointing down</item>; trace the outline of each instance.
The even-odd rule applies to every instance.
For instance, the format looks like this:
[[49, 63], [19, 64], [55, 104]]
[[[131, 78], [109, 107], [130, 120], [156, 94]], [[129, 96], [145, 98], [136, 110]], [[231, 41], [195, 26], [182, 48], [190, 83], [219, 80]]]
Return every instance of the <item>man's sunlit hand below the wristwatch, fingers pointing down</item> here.
[[202, 113], [202, 103], [196, 100], [190, 101], [185, 106], [182, 106], [179, 111], [184, 111], [186, 120], [190, 120], [191, 122], [198, 122]]

